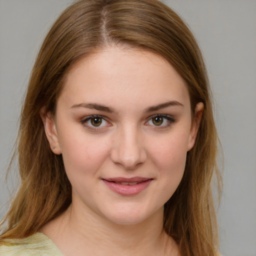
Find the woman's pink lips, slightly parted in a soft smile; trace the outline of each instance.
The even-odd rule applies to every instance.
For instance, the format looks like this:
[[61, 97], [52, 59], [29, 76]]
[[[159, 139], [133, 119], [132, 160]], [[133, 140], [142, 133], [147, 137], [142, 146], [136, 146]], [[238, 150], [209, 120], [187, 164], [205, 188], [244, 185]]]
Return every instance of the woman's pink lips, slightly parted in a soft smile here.
[[151, 183], [152, 180], [152, 178], [147, 177], [114, 177], [102, 179], [102, 181], [112, 191], [126, 196], [140, 193]]

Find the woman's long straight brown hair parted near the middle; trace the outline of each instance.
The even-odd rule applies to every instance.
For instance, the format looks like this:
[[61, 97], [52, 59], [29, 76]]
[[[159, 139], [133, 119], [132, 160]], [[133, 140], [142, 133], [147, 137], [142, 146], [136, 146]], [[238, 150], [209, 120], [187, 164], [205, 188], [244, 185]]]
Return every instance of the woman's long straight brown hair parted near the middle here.
[[210, 184], [214, 173], [218, 184], [221, 177], [206, 68], [188, 27], [157, 0], [78, 0], [53, 24], [36, 58], [22, 107], [17, 140], [21, 184], [4, 218], [8, 227], [1, 239], [35, 233], [70, 204], [71, 185], [62, 157], [50, 150], [39, 113], [42, 107], [54, 113], [69, 68], [106, 45], [145, 48], [162, 55], [186, 81], [191, 109], [204, 103], [183, 178], [164, 205], [163, 227], [179, 244], [181, 255], [216, 255]]

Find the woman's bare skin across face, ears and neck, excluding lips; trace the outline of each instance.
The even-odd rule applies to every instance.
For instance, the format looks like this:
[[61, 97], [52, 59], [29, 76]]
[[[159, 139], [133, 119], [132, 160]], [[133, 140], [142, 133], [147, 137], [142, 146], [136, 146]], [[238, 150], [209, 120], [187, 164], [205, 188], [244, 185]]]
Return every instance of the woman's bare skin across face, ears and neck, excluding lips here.
[[[54, 116], [41, 112], [72, 185], [71, 205], [41, 231], [64, 255], [178, 255], [162, 229], [163, 205], [182, 178], [202, 111], [199, 102], [192, 120], [184, 80], [155, 53], [109, 46], [80, 60]], [[134, 195], [104, 182], [137, 176], [150, 181]]]

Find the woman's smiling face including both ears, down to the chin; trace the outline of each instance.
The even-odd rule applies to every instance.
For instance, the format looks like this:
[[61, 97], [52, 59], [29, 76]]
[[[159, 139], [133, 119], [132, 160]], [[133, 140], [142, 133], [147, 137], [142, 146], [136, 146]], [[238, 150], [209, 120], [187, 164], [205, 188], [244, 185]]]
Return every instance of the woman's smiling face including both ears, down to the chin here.
[[42, 119], [53, 152], [62, 154], [72, 204], [135, 224], [162, 214], [201, 112], [198, 103], [192, 121], [186, 84], [164, 58], [109, 47], [70, 70], [54, 116]]

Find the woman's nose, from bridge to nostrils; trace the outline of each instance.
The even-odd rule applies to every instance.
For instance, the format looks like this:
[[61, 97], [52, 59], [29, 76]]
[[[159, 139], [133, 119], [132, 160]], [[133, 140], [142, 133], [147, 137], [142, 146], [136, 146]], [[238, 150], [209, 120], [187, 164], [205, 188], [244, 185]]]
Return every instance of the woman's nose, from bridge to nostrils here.
[[146, 150], [137, 127], [126, 127], [113, 135], [110, 158], [125, 169], [134, 169], [146, 160]]

